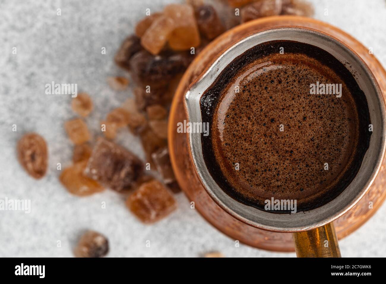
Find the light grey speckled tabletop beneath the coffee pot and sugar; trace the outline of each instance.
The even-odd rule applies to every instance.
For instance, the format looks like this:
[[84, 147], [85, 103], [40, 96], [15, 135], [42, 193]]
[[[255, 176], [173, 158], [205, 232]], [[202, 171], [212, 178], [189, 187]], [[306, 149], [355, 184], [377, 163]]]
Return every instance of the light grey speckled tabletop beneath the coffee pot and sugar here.
[[[294, 257], [246, 245], [210, 226], [176, 196], [178, 210], [152, 226], [139, 223], [113, 191], [79, 198], [58, 181], [70, 164], [73, 146], [63, 122], [75, 117], [69, 95], [46, 95], [45, 84], [77, 83], [88, 92], [95, 111], [86, 119], [97, 133], [98, 122], [127, 97], [111, 90], [106, 77], [124, 74], [113, 64], [120, 42], [133, 31], [146, 8], [161, 9], [173, 0], [0, 0], [0, 199], [30, 199], [31, 213], [0, 211], [0, 257], [71, 257], [80, 231], [91, 228], [108, 236], [110, 257], [190, 257], [219, 250], [227, 257]], [[384, 0], [313, 0], [315, 18], [340, 27], [371, 46], [386, 66], [386, 2]], [[61, 16], [56, 9], [61, 8]], [[323, 15], [328, 8], [329, 15]], [[101, 54], [106, 47], [107, 54]], [[12, 54], [12, 48], [17, 54]], [[17, 125], [17, 132], [12, 125]], [[15, 158], [15, 144], [36, 131], [49, 145], [49, 170], [34, 180]], [[118, 143], [144, 157], [137, 138], [123, 132]], [[101, 208], [105, 201], [106, 209]], [[386, 254], [386, 204], [359, 230], [340, 242], [345, 257]], [[57, 247], [57, 241], [61, 247]], [[151, 247], [146, 247], [146, 240]]]

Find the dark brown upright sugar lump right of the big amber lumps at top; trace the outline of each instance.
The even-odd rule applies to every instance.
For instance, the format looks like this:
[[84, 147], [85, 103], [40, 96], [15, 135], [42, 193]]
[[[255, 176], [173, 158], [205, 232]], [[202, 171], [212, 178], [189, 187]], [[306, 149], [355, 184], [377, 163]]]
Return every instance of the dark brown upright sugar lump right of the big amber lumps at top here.
[[207, 39], [214, 39], [225, 31], [225, 28], [211, 5], [202, 5], [195, 11], [200, 33]]

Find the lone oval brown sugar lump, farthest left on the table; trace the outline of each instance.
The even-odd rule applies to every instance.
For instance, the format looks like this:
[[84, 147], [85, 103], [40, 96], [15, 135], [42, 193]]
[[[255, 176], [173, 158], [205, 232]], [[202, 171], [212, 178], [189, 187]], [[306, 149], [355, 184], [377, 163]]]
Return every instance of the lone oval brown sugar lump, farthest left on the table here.
[[24, 170], [35, 179], [47, 172], [47, 143], [36, 133], [27, 133], [17, 143], [17, 157]]

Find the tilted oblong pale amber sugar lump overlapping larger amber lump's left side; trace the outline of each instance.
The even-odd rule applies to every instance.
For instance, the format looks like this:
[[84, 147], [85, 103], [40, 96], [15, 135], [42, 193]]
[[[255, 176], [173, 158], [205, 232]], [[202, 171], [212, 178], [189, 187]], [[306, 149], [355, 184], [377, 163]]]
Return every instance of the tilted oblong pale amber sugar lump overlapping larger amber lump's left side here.
[[164, 15], [157, 17], [141, 37], [142, 46], [150, 53], [158, 54], [168, 41], [173, 29], [173, 19]]

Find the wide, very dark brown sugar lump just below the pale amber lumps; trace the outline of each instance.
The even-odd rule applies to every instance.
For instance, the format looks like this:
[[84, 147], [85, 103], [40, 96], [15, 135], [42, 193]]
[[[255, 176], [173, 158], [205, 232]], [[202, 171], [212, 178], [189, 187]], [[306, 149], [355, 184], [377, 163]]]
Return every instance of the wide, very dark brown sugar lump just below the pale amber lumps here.
[[194, 58], [190, 51], [171, 53], [164, 51], [153, 56], [147, 51], [140, 51], [130, 60], [133, 78], [142, 86], [161, 88], [183, 73]]

